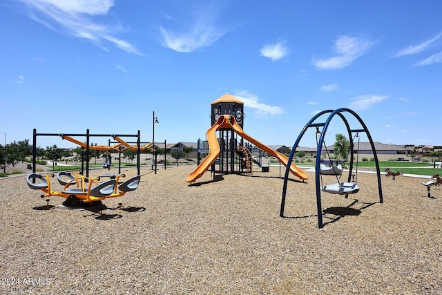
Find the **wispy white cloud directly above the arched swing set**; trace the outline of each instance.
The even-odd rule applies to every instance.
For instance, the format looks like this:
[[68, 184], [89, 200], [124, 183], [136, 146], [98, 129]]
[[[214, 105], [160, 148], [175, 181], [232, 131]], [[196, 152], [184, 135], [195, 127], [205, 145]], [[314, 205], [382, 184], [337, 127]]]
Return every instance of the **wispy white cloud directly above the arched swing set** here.
[[352, 64], [354, 59], [365, 55], [374, 42], [363, 37], [339, 36], [334, 44], [338, 54], [328, 59], [313, 59], [313, 64], [320, 70], [336, 70]]

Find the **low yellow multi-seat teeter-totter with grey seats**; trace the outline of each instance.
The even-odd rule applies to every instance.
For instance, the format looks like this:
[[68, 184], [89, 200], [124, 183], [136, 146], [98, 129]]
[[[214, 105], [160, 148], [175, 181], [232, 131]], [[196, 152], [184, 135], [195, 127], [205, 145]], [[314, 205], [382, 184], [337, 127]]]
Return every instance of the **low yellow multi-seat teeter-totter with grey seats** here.
[[[52, 196], [66, 198], [71, 207], [81, 207], [83, 204], [96, 203], [106, 198], [124, 196], [128, 191], [137, 189], [141, 178], [140, 175], [136, 175], [125, 182], [119, 183], [120, 178], [125, 178], [126, 175], [105, 174], [97, 178], [86, 178], [81, 173], [60, 171], [57, 173], [57, 180], [64, 188], [61, 191], [54, 191], [50, 183], [50, 178], [54, 176], [53, 173], [30, 173], [26, 178], [26, 182], [30, 189], [44, 192], [41, 198]], [[100, 183], [101, 178], [110, 178], [110, 180]]]

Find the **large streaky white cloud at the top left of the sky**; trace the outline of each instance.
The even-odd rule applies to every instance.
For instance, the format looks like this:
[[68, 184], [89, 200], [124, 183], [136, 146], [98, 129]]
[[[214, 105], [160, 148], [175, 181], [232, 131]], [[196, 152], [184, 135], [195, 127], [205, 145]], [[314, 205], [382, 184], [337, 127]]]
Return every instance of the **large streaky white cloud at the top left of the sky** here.
[[128, 53], [141, 55], [127, 41], [118, 39], [115, 34], [120, 26], [112, 28], [100, 25], [93, 20], [95, 16], [107, 15], [114, 6], [114, 0], [19, 0], [27, 4], [28, 16], [57, 32], [64, 32], [107, 50], [106, 41]]

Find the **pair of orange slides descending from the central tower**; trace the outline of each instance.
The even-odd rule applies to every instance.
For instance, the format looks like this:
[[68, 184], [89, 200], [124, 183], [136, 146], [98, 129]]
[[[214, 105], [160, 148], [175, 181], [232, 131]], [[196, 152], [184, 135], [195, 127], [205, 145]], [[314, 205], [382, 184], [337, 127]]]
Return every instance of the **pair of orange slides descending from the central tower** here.
[[[233, 123], [230, 122], [229, 120], [230, 118], [232, 119]], [[192, 173], [189, 174], [189, 176], [187, 176], [186, 180], [187, 182], [195, 182], [195, 180], [200, 178], [204, 174], [204, 172], [206, 172], [207, 169], [209, 169], [211, 164], [215, 162], [216, 158], [218, 158], [218, 155], [220, 154], [220, 144], [218, 144], [216, 131], [218, 131], [219, 129], [232, 129], [236, 134], [240, 135], [240, 137], [251, 142], [252, 144], [255, 144], [256, 146], [258, 146], [258, 148], [262, 149], [266, 153], [273, 155], [273, 157], [275, 157], [279, 162], [284, 164], [284, 166], [287, 166], [287, 162], [289, 161], [289, 159], [285, 155], [282, 155], [282, 153], [270, 149], [265, 144], [262, 144], [258, 142], [258, 140], [255, 140], [253, 137], [247, 135], [247, 133], [245, 133], [242, 130], [241, 126], [238, 125], [238, 123], [236, 122], [235, 118], [232, 115], [221, 115], [218, 118], [218, 121], [215, 124], [213, 124], [213, 126], [211, 126], [211, 128], [206, 132], [207, 140], [209, 141], [209, 155], [207, 155], [206, 158], [204, 158], [204, 160], [200, 163], [200, 165], [198, 165], [195, 171], [193, 171]], [[308, 179], [307, 174], [305, 174], [304, 171], [299, 169], [293, 163], [291, 163], [290, 165], [290, 172], [293, 175], [298, 176], [298, 178], [302, 180]]]

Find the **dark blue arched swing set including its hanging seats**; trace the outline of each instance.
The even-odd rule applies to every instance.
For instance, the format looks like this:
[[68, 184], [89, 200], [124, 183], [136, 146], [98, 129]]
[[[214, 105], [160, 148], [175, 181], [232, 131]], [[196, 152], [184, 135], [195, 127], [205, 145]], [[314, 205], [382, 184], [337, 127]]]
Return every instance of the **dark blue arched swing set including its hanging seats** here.
[[[329, 114], [329, 117], [327, 117], [327, 120], [325, 122], [315, 122], [319, 117], [322, 115], [325, 115], [327, 113]], [[349, 126], [349, 122], [347, 118], [345, 117], [344, 113], [349, 113], [352, 115], [358, 122], [361, 124], [362, 129], [351, 129]], [[321, 166], [321, 154], [322, 154], [322, 148], [323, 145], [325, 146], [324, 138], [325, 133], [327, 132], [327, 128], [329, 127], [329, 124], [333, 117], [335, 115], [338, 115], [340, 117], [347, 129], [348, 136], [349, 136], [349, 144], [350, 144], [350, 150], [349, 153], [347, 153], [347, 156], [350, 155], [349, 160], [349, 173], [347, 182], [341, 182], [340, 178], [343, 175], [341, 167], [338, 166], [332, 166], [329, 169], [327, 169], [327, 166], [323, 165]], [[302, 129], [301, 133], [298, 135], [298, 138], [296, 139], [296, 142], [294, 143], [293, 149], [291, 149], [291, 153], [289, 155], [288, 161], [291, 162], [294, 158], [294, 154], [296, 153], [296, 148], [298, 147], [298, 144], [300, 143], [300, 140], [302, 139], [302, 136], [305, 134], [307, 129], [309, 128], [315, 128], [316, 129], [316, 140], [318, 145], [318, 150], [316, 153], [316, 164], [315, 164], [315, 180], [316, 180], [316, 207], [318, 211], [318, 228], [323, 227], [323, 209], [321, 204], [321, 191], [327, 192], [327, 193], [334, 193], [334, 194], [340, 194], [345, 195], [345, 198], [348, 198], [349, 194], [352, 193], [358, 193], [360, 190], [360, 187], [358, 187], [357, 184], [357, 175], [358, 175], [358, 158], [356, 159], [356, 171], [353, 174], [353, 168], [354, 168], [354, 159], [353, 155], [355, 153], [354, 151], [354, 139], [358, 138], [358, 146], [356, 150], [356, 155], [358, 155], [358, 149], [359, 149], [359, 133], [365, 133], [368, 137], [368, 140], [372, 146], [372, 152], [374, 155], [374, 161], [376, 163], [376, 174], [377, 174], [377, 180], [378, 180], [378, 192], [379, 192], [379, 202], [383, 203], [383, 195], [382, 195], [382, 187], [381, 187], [381, 173], [379, 171], [379, 163], [378, 163], [378, 157], [376, 155], [376, 149], [374, 149], [374, 142], [372, 140], [372, 136], [369, 134], [369, 131], [367, 129], [367, 126], [365, 126], [365, 123], [359, 117], [354, 111], [350, 110], [349, 108], [338, 108], [336, 110], [327, 110], [322, 111], [307, 122], [307, 124], [304, 126], [304, 129]], [[320, 131], [320, 128], [322, 127], [322, 130]], [[354, 135], [353, 135], [354, 134]], [[318, 135], [320, 135], [318, 139]], [[330, 162], [332, 162], [332, 159], [329, 156], [329, 152], [327, 150], [327, 146], [325, 146], [325, 149], [327, 151], [327, 155], [329, 157]], [[346, 159], [347, 161], [347, 159]], [[344, 164], [345, 167], [345, 164]], [[337, 182], [334, 184], [327, 184], [323, 185], [323, 177], [322, 175], [335, 175]], [[352, 176], [354, 179], [352, 180]], [[286, 169], [285, 171], [285, 177], [284, 177], [284, 184], [282, 187], [282, 199], [281, 199], [281, 208], [280, 208], [280, 217], [284, 216], [284, 209], [285, 209], [285, 201], [286, 201], [286, 195], [287, 195], [287, 181], [289, 178], [289, 169]]]

